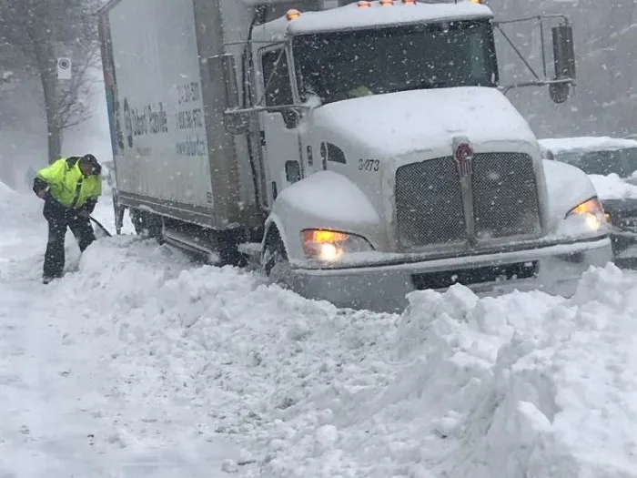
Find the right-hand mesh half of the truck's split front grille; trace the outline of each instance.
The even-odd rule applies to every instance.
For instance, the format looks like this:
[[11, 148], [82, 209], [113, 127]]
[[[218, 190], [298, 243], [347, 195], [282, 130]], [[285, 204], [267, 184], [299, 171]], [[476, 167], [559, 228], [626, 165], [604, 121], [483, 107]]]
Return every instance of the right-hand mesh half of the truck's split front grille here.
[[477, 154], [471, 184], [476, 239], [541, 232], [538, 187], [529, 155]]

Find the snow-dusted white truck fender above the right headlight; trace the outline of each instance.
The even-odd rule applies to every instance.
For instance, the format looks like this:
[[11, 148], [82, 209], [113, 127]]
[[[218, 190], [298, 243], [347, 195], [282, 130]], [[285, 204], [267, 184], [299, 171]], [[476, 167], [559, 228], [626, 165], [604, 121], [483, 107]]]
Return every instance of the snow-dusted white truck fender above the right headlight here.
[[557, 229], [561, 220], [582, 202], [596, 197], [591, 178], [580, 168], [554, 160], [543, 160], [549, 196], [549, 229]]

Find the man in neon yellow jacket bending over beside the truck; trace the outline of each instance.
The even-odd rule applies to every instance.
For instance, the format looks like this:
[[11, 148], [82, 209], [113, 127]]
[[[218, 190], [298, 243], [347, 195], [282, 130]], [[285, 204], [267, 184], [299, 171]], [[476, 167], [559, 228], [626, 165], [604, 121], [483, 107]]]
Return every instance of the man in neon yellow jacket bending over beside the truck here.
[[43, 214], [48, 221], [45, 284], [63, 275], [66, 228], [71, 229], [82, 252], [96, 239], [90, 215], [102, 194], [101, 171], [97, 159], [86, 155], [57, 159], [35, 177], [33, 190], [45, 200]]

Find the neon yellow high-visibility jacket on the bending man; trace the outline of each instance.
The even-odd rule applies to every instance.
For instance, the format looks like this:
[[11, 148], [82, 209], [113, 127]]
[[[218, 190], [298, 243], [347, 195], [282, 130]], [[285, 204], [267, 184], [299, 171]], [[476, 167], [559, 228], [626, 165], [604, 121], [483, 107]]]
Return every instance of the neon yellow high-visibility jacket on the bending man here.
[[[102, 178], [99, 175], [85, 177], [79, 168], [78, 157], [60, 158], [37, 172], [35, 182], [43, 181], [50, 187], [49, 193], [66, 208], [82, 208], [86, 201], [95, 207], [102, 194]], [[91, 208], [92, 209], [92, 208]]]

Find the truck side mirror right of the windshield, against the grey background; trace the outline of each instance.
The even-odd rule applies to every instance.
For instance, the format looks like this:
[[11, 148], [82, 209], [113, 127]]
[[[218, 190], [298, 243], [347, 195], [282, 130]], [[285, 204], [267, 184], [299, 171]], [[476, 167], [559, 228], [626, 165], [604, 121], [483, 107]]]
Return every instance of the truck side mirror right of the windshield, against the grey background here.
[[[551, 28], [553, 36], [553, 63], [556, 80], [575, 79], [575, 46], [571, 25], [557, 25]], [[549, 95], [555, 103], [563, 103], [571, 95], [572, 81], [551, 83]]]

